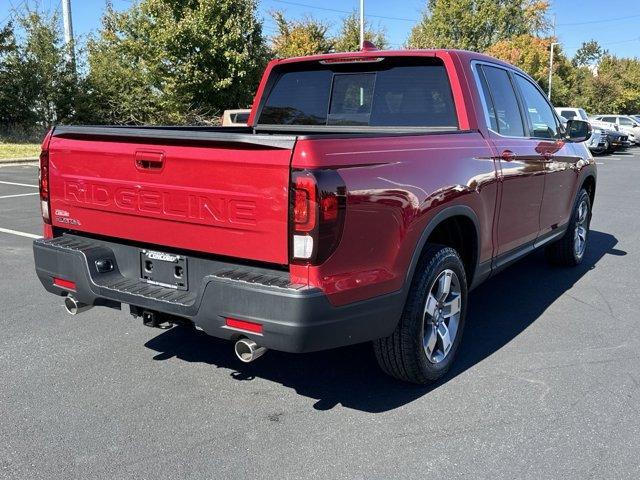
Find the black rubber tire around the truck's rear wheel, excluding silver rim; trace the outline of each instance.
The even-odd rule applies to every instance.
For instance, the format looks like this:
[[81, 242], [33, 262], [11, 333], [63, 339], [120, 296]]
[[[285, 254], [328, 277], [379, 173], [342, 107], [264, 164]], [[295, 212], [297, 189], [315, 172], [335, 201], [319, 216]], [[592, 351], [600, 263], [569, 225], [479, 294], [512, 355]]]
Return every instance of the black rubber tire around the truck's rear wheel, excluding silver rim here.
[[[428, 316], [428, 319], [425, 320], [424, 312], [427, 306], [427, 298], [432, 289], [437, 287], [435, 282], [436, 280], [440, 281], [442, 275], [449, 275], [450, 278], [449, 291], [451, 293], [448, 294], [449, 297], [447, 298], [455, 298], [454, 283], [451, 280], [453, 276], [448, 273], [451, 271], [455, 274], [456, 289], [459, 290], [460, 303], [458, 308], [460, 314], [457, 317], [455, 338], [449, 343], [450, 348], [448, 351], [443, 352], [444, 357], [441, 361], [434, 363], [433, 360], [430, 361], [427, 357], [427, 351], [424, 346], [425, 322], [429, 322], [429, 328], [434, 329], [431, 330], [430, 336], [435, 335], [436, 339], [443, 345], [443, 340], [437, 334], [438, 330], [435, 327], [436, 320], [439, 318], [440, 322], [447, 322], [447, 320], [451, 322], [451, 318], [445, 319], [442, 317], [442, 308], [439, 309], [440, 314], [435, 315], [435, 319]], [[457, 294], [457, 292], [455, 293]], [[450, 306], [448, 308], [449, 312], [453, 309]], [[452, 248], [427, 244], [416, 267], [411, 290], [395, 331], [389, 337], [380, 338], [373, 342], [375, 355], [382, 370], [397, 379], [420, 385], [431, 383], [443, 376], [451, 366], [460, 345], [464, 331], [466, 308], [467, 279], [460, 256]], [[438, 308], [435, 310], [438, 310]], [[448, 335], [449, 331], [447, 331]], [[431, 352], [431, 354], [436, 357], [434, 352]]]

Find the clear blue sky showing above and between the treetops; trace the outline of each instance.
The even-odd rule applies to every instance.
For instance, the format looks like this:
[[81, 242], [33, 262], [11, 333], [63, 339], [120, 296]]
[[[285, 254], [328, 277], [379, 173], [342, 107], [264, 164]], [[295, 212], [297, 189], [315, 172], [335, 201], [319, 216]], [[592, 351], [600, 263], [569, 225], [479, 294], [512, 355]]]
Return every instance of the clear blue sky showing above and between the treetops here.
[[[118, 10], [133, 0], [113, 0]], [[400, 48], [411, 27], [418, 21], [424, 0], [365, 0], [367, 20], [386, 30], [391, 47]], [[45, 10], [60, 9], [60, 0], [0, 0], [0, 25], [6, 23], [12, 9], [23, 10], [40, 4]], [[86, 37], [100, 26], [105, 0], [71, 0], [74, 33]], [[267, 35], [275, 32], [269, 16], [281, 10], [287, 18], [311, 15], [324, 20], [337, 31], [344, 12], [359, 7], [359, 0], [260, 0], [259, 16]], [[640, 57], [640, 0], [551, 0], [551, 17], [563, 50], [572, 56], [582, 42], [597, 40], [611, 53], [622, 57]]]

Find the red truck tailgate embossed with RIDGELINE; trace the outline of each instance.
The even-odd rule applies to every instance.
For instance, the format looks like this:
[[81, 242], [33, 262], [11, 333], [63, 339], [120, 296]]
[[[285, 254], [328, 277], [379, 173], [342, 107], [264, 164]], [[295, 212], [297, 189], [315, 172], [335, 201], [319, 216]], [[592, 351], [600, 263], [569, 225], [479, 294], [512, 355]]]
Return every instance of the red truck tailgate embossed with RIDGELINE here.
[[167, 129], [163, 137], [160, 130], [122, 129], [116, 136], [103, 129], [54, 131], [54, 226], [157, 248], [288, 263], [294, 140], [197, 132], [202, 138], [185, 141], [189, 132], [179, 130]]

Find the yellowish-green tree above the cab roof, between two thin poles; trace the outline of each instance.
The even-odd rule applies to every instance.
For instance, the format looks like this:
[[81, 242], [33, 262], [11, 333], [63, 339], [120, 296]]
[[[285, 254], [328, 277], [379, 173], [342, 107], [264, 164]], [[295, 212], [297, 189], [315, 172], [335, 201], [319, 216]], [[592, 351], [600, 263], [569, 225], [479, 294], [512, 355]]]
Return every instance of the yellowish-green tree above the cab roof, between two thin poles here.
[[501, 40], [544, 33], [548, 8], [540, 0], [428, 0], [408, 46], [483, 52]]

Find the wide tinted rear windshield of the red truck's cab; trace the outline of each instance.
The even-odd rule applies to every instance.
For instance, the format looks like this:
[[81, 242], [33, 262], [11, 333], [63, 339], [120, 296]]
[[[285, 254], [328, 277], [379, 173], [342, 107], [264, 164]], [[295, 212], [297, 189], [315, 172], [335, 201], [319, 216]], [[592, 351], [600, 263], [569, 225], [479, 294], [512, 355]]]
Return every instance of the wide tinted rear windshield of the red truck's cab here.
[[284, 72], [268, 94], [258, 124], [457, 129], [444, 66], [434, 59], [413, 63], [386, 58]]

